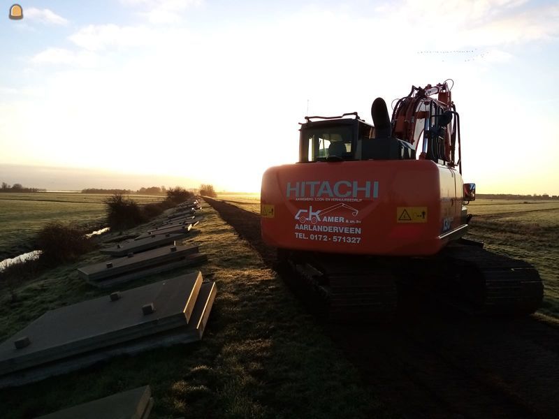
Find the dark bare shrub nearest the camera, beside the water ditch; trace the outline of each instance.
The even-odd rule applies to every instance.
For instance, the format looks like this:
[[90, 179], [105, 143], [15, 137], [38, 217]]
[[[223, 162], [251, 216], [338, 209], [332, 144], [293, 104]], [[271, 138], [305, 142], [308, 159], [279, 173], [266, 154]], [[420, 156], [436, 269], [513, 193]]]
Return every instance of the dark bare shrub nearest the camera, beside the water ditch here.
[[92, 240], [85, 237], [85, 229], [48, 223], [38, 233], [36, 244], [43, 251], [39, 260], [47, 266], [71, 262], [94, 248]]

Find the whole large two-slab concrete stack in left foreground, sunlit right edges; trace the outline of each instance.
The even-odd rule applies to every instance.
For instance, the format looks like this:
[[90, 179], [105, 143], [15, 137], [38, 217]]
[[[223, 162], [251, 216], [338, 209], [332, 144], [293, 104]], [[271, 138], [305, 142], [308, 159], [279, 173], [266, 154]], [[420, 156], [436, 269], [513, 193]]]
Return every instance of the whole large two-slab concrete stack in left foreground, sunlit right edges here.
[[[48, 311], [0, 344], [0, 388], [65, 374], [117, 355], [199, 341], [217, 293], [215, 282], [201, 280], [200, 272], [186, 274], [123, 291], [116, 301], [113, 293]], [[15, 347], [25, 340], [27, 346]]]

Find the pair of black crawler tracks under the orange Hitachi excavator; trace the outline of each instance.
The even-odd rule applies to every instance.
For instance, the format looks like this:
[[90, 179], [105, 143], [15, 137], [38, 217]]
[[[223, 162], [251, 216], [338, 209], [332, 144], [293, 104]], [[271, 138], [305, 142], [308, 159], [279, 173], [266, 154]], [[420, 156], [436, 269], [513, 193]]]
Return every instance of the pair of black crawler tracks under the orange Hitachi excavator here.
[[398, 289], [410, 288], [470, 314], [536, 311], [543, 284], [535, 267], [482, 246], [460, 240], [430, 258], [291, 253], [286, 260], [329, 321], [382, 321], [398, 309]]

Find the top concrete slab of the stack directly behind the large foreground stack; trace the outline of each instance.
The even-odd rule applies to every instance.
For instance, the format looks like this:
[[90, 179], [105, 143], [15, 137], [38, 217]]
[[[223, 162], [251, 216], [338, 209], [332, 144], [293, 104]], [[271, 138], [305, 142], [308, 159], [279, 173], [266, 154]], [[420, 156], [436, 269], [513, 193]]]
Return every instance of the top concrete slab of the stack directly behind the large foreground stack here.
[[166, 246], [110, 261], [94, 263], [78, 268], [78, 274], [85, 281], [103, 281], [122, 274], [137, 272], [164, 263], [177, 262], [186, 256], [198, 253], [198, 246]]

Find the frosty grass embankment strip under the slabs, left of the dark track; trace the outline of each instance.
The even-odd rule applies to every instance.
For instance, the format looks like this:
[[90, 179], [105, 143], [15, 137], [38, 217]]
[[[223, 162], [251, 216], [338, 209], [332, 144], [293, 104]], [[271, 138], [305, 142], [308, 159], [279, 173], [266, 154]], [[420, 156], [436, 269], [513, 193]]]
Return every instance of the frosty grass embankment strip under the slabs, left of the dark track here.
[[[207, 205], [204, 213], [193, 237], [184, 240], [198, 243], [208, 254], [208, 263], [199, 269], [217, 282], [203, 340], [0, 390], [3, 418], [50, 413], [146, 384], [152, 386], [155, 398], [150, 418], [156, 419], [391, 416], [370, 389], [362, 387], [356, 369], [256, 251]], [[116, 237], [112, 233], [104, 240]], [[0, 338], [6, 339], [48, 309], [109, 293], [87, 286], [76, 272], [77, 267], [105, 259], [95, 251], [78, 263], [45, 272], [18, 290], [15, 303], [3, 295]], [[133, 281], [121, 289], [185, 272], [189, 270]]]

